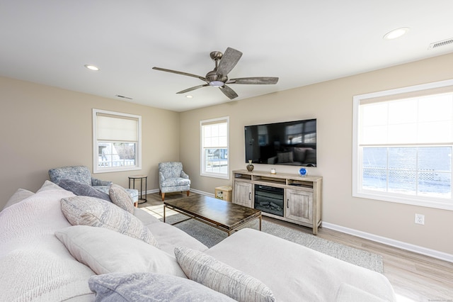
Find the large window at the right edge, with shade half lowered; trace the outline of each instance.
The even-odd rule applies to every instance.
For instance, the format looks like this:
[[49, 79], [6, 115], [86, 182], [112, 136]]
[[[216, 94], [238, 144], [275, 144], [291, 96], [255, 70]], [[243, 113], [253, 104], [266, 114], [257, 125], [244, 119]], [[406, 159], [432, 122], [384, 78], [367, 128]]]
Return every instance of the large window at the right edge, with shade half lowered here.
[[453, 80], [354, 97], [352, 195], [453, 211]]

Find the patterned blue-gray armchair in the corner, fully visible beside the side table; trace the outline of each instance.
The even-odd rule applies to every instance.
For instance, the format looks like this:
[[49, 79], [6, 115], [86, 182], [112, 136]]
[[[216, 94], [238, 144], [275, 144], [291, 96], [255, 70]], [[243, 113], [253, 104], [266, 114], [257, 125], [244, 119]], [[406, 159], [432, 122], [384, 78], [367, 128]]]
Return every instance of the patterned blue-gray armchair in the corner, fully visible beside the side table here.
[[159, 194], [162, 201], [169, 192], [190, 192], [190, 179], [183, 171], [181, 162], [159, 162]]

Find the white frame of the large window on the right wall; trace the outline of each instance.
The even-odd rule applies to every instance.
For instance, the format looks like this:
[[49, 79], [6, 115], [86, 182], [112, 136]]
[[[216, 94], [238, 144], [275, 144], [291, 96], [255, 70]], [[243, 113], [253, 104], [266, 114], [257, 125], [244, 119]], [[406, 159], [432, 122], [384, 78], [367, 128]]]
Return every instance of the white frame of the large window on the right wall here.
[[[353, 113], [352, 113], [352, 196], [359, 198], [368, 198], [379, 201], [389, 201], [394, 203], [404, 203], [413, 206], [424, 206], [428, 208], [440, 208], [453, 211], [453, 184], [450, 198], [437, 198], [432, 196], [411, 196], [396, 194], [391, 192], [381, 192], [362, 189], [362, 147], [360, 147], [360, 105], [365, 104], [370, 99], [398, 100], [413, 96], [426, 96], [430, 94], [439, 94], [437, 91], [453, 91], [453, 79], [407, 86], [398, 89], [386, 91], [377, 91], [369, 94], [353, 96]], [[453, 144], [453, 142], [450, 142]], [[450, 144], [443, 144], [449, 145]], [[415, 147], [428, 147], [427, 144], [411, 145]], [[452, 159], [453, 160], [453, 159]], [[452, 165], [453, 167], [453, 165]], [[452, 168], [453, 169], [453, 168]], [[453, 171], [452, 171], [453, 175]], [[452, 177], [453, 181], [453, 177]]]

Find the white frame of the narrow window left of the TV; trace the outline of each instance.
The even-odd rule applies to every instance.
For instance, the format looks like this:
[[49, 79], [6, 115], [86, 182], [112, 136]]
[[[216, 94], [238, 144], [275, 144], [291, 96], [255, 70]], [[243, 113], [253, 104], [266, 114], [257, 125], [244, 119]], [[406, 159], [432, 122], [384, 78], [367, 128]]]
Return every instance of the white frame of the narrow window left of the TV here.
[[[226, 123], [226, 174], [217, 172], [208, 172], [205, 166], [205, 145], [204, 145], [204, 125], [212, 125]], [[218, 146], [221, 147], [221, 146]], [[229, 179], [229, 116], [223, 116], [221, 118], [211, 118], [200, 121], [200, 176], [202, 177], [213, 177], [220, 179]]]

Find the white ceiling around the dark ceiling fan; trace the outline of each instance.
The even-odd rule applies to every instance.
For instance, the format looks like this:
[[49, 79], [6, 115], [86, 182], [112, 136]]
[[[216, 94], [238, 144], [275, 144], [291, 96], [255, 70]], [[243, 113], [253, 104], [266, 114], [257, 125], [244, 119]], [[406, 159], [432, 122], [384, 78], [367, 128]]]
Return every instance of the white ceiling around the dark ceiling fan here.
[[[452, 0], [0, 0], [0, 75], [187, 111], [230, 101], [219, 89], [177, 91], [205, 76], [210, 52], [243, 52], [236, 100], [453, 52]], [[395, 28], [410, 31], [384, 40]], [[86, 64], [101, 70], [92, 72]]]

